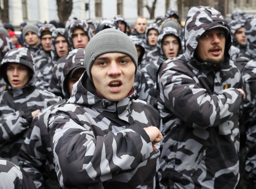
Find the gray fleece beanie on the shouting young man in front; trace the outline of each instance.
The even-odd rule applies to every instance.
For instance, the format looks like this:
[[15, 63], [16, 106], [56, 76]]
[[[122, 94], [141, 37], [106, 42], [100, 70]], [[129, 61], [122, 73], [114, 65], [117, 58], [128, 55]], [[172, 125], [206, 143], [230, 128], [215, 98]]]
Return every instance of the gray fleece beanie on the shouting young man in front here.
[[91, 80], [91, 68], [95, 59], [101, 54], [112, 52], [127, 54], [131, 57], [131, 60], [135, 64], [136, 74], [138, 56], [133, 41], [125, 33], [113, 28], [108, 28], [93, 36], [84, 49], [84, 64]]

